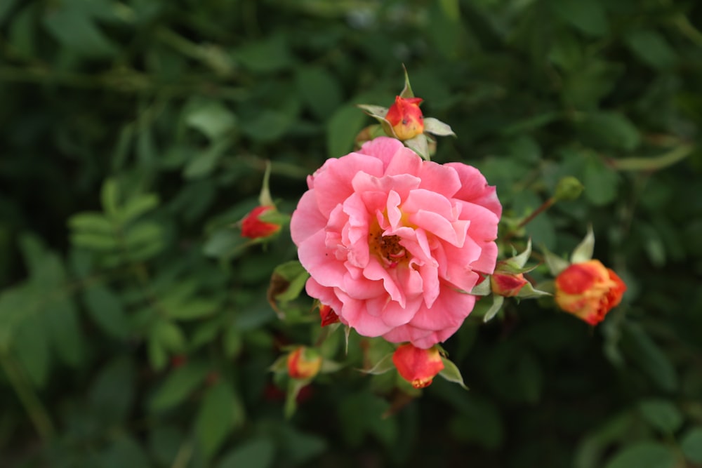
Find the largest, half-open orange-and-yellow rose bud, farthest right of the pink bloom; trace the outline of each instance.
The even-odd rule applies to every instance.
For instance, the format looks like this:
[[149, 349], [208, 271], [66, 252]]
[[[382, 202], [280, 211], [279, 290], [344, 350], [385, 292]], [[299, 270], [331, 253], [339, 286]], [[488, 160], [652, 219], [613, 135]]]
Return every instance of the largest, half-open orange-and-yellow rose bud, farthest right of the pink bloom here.
[[596, 325], [621, 302], [623, 281], [600, 260], [574, 263], [556, 277], [558, 307]]

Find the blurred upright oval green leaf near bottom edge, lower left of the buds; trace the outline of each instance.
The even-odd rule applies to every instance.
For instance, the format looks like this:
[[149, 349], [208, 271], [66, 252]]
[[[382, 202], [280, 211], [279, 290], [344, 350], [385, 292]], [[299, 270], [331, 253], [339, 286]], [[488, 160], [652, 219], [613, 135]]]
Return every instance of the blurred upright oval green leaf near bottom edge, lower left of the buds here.
[[[217, 382], [208, 389], [195, 421], [195, 436], [206, 456], [214, 455], [231, 434], [234, 413], [239, 410], [241, 408], [235, 403], [234, 392], [227, 382]], [[237, 419], [239, 417], [236, 415]]]

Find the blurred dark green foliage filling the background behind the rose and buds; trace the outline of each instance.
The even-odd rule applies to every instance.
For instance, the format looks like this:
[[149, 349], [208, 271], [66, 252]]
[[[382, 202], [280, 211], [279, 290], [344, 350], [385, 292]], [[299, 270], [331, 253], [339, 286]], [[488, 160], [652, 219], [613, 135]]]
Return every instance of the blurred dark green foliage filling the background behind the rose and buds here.
[[[0, 2], [0, 464], [700, 466], [701, 23], [694, 0]], [[591, 223], [629, 290], [595, 329], [548, 302], [469, 318], [446, 349], [470, 392], [346, 368], [285, 420], [267, 368], [312, 337], [266, 289], [295, 248], [232, 225], [266, 160], [291, 213], [402, 63], [458, 134], [435, 160], [507, 219], [581, 180], [526, 234], [565, 254]]]

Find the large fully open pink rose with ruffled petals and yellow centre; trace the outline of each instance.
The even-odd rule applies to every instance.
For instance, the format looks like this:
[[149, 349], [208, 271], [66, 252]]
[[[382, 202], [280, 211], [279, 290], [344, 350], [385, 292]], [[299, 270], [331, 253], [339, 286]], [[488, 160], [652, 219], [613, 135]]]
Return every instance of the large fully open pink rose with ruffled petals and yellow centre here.
[[502, 206], [476, 168], [379, 137], [307, 178], [291, 220], [307, 293], [360, 335], [430, 348], [495, 269]]

